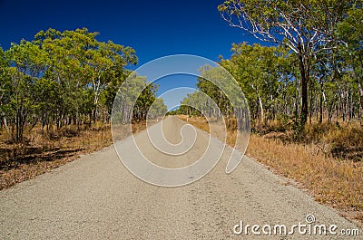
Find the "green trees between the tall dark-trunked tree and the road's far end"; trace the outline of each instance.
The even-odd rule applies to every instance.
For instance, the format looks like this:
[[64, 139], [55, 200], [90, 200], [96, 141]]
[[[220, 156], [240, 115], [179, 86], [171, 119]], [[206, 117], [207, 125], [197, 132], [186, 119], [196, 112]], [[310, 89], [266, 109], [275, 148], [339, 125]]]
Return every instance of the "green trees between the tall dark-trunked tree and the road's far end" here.
[[[249, 102], [250, 117], [254, 122], [261, 127], [266, 120], [274, 120], [281, 114], [293, 115], [297, 105], [294, 98], [297, 97], [299, 88], [291, 81], [296, 72], [291, 72], [289, 51], [284, 47], [263, 47], [247, 43], [233, 43], [231, 51], [231, 59], [221, 59], [220, 64], [231, 72], [244, 91]], [[201, 76], [216, 78], [213, 70], [214, 68], [204, 67]], [[203, 77], [198, 79], [197, 87], [211, 97], [223, 116], [234, 116], [231, 101], [219, 87]], [[201, 104], [203, 101], [196, 98], [199, 95], [197, 93], [189, 94], [182, 104], [188, 105], [190, 101], [195, 101], [196, 106]], [[181, 110], [185, 113], [185, 109]]]

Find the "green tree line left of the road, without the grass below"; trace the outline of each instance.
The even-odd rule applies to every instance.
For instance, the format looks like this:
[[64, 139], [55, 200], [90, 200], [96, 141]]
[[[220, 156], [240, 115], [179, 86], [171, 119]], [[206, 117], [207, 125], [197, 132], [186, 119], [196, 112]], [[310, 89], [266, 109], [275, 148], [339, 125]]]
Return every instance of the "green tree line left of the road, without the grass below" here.
[[[25, 127], [42, 130], [108, 121], [116, 92], [137, 63], [131, 47], [96, 40], [86, 28], [40, 31], [31, 42], [0, 49], [0, 122], [16, 142]], [[143, 91], [134, 118], [145, 119], [145, 106], [156, 86]], [[140, 112], [139, 112], [140, 110]]]

